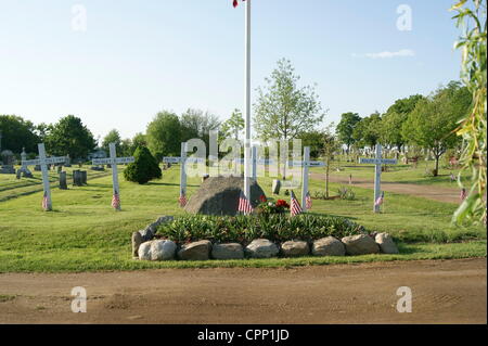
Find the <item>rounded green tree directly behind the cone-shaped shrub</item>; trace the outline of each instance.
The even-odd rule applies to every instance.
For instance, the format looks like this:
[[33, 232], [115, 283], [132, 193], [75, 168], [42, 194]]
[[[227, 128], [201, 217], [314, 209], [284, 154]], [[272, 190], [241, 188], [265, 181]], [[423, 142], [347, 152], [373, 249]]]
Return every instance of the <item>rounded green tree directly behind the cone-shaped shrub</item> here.
[[159, 161], [163, 156], [179, 155], [181, 151], [181, 126], [178, 116], [159, 112], [147, 125], [147, 146]]

